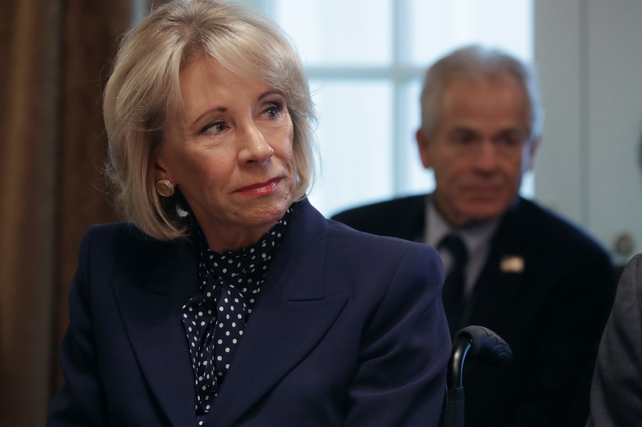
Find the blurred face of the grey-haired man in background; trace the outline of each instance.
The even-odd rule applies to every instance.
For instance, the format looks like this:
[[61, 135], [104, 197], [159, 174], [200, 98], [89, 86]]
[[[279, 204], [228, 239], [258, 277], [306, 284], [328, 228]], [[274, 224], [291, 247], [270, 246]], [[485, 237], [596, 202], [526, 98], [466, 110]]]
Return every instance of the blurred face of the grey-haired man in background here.
[[437, 208], [454, 227], [502, 215], [538, 143], [529, 142], [526, 93], [509, 75], [452, 78], [432, 135], [417, 131], [422, 163], [434, 170]]

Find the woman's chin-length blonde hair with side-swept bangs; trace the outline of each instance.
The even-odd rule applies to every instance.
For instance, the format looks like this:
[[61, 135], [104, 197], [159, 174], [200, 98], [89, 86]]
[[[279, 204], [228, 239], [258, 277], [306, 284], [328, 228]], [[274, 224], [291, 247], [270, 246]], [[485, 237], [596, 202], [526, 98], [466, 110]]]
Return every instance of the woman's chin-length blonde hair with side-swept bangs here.
[[295, 200], [305, 197], [315, 176], [315, 109], [289, 38], [242, 6], [172, 1], [124, 36], [103, 96], [106, 174], [116, 187], [116, 206], [126, 220], [159, 240], [191, 232], [193, 220], [180, 190], [161, 200], [152, 166], [163, 144], [165, 120], [182, 103], [180, 70], [204, 54], [283, 93], [295, 132]]

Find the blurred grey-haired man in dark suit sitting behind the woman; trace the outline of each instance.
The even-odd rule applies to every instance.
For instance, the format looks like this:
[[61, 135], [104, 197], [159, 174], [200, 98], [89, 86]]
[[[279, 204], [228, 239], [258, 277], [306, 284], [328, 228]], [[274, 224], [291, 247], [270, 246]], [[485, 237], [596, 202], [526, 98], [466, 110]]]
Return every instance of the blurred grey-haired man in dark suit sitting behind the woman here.
[[509, 366], [466, 366], [468, 427], [584, 426], [613, 268], [585, 232], [519, 197], [544, 120], [534, 71], [460, 48], [429, 68], [421, 106], [417, 146], [434, 192], [333, 219], [436, 247], [452, 334], [478, 324], [511, 346]]

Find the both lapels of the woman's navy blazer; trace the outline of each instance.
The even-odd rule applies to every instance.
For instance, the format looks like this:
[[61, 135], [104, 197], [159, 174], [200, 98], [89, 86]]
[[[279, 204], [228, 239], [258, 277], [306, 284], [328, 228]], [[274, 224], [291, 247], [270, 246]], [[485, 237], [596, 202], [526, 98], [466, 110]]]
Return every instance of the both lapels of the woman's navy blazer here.
[[[174, 425], [195, 425], [195, 388], [181, 308], [198, 292], [187, 242], [159, 257], [148, 282], [120, 281], [118, 303], [148, 384]], [[323, 292], [327, 221], [297, 202], [211, 413], [230, 426], [317, 344], [347, 297]], [[278, 344], [275, 344], [278, 343]], [[193, 423], [191, 421], [194, 421]]]

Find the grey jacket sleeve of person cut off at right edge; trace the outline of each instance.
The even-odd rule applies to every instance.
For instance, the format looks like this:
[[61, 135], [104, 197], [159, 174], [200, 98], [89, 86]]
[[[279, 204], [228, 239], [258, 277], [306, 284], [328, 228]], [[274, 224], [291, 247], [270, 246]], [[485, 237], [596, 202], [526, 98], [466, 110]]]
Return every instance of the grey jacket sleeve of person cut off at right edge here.
[[626, 264], [602, 335], [587, 427], [642, 426], [642, 254]]

